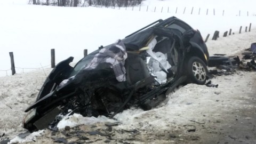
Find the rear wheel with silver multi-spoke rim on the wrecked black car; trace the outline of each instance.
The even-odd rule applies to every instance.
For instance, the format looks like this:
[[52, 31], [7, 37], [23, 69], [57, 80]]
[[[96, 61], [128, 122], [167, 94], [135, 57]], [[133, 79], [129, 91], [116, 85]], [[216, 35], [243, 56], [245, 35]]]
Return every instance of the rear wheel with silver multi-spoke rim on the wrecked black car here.
[[207, 67], [203, 60], [191, 57], [187, 62], [188, 78], [191, 82], [203, 85], [206, 82]]

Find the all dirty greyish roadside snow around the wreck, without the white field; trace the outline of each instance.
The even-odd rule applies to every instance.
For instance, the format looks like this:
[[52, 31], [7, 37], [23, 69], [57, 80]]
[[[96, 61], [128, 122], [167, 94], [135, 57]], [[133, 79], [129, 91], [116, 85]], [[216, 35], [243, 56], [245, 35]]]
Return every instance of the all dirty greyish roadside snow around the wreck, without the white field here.
[[[209, 47], [214, 49], [212, 53], [234, 55], [247, 49], [254, 41], [253, 36], [255, 35], [256, 30], [253, 29], [251, 33], [220, 38], [218, 41], [209, 41]], [[227, 43], [227, 41], [232, 43]], [[35, 101], [38, 90], [44, 82], [46, 75], [50, 73], [50, 70], [36, 70], [30, 73], [0, 78], [0, 110], [2, 114], [0, 117], [0, 132], [4, 132], [7, 137], [14, 138], [18, 133], [25, 131], [22, 129], [22, 119], [26, 113], [23, 111]], [[214, 143], [218, 141], [223, 143], [231, 141], [232, 143], [233, 140], [229, 140], [228, 135], [243, 142], [255, 143], [256, 137], [255, 132], [253, 132], [253, 125], [256, 124], [253, 120], [255, 115], [247, 114], [247, 111], [253, 113], [256, 109], [255, 75], [255, 72], [237, 71], [233, 75], [215, 77], [212, 79], [212, 83], [218, 84], [218, 88], [188, 84], [169, 94], [165, 105], [163, 103], [161, 107], [149, 111], [129, 109], [117, 114], [115, 118], [117, 122], [122, 124], [113, 129], [139, 130], [141, 138], [133, 139], [135, 143], [152, 142], [153, 139], [147, 138], [149, 137], [148, 133], [153, 134], [151, 137], [154, 137], [154, 142], [156, 143], [188, 143], [193, 135], [196, 135], [195, 137], [199, 138], [199, 142], [202, 143], [211, 143], [209, 141]], [[239, 121], [235, 119], [239, 119]], [[66, 121], [60, 122], [59, 127], [63, 128], [67, 125], [76, 126], [81, 124], [86, 124], [90, 127], [96, 123], [99, 126], [98, 129], [100, 129], [105, 122], [115, 121], [106, 117], [84, 118], [74, 115]], [[191, 133], [187, 132], [188, 127], [185, 125], [195, 126], [197, 131], [192, 133], [191, 136]], [[206, 128], [202, 127], [202, 125], [205, 125]], [[237, 127], [238, 125], [240, 127]], [[231, 131], [233, 129], [241, 129], [241, 134], [233, 133]], [[250, 129], [248, 133], [247, 129]], [[166, 135], [162, 135], [161, 138], [157, 139], [157, 134], [166, 134], [165, 132], [175, 134], [177, 138], [168, 140]], [[207, 135], [207, 133], [210, 133], [210, 135]], [[38, 133], [34, 133], [34, 136], [31, 135], [26, 139], [17, 137], [12, 142], [34, 140], [39, 143], [51, 143], [53, 139], [47, 138], [50, 137], [49, 134], [51, 135], [50, 131], [40, 132], [39, 135], [41, 137], [39, 137]], [[130, 136], [116, 133], [116, 136], [113, 137], [116, 137], [116, 139], [129, 139]], [[250, 137], [250, 139], [245, 137]], [[91, 138], [91, 140], [93, 139]], [[98, 141], [98, 143], [101, 142]], [[190, 141], [190, 143], [193, 143], [193, 141]], [[194, 141], [194, 143], [198, 143], [198, 141]]]

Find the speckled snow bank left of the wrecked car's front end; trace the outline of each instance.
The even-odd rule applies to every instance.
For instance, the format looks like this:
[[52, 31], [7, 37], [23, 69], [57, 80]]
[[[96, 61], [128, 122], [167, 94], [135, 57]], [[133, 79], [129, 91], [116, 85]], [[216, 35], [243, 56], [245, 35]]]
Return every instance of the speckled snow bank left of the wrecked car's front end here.
[[31, 73], [0, 77], [0, 133], [13, 137], [24, 131], [24, 111], [36, 100], [50, 70], [45, 69], [46, 74], [43, 70], [35, 70]]

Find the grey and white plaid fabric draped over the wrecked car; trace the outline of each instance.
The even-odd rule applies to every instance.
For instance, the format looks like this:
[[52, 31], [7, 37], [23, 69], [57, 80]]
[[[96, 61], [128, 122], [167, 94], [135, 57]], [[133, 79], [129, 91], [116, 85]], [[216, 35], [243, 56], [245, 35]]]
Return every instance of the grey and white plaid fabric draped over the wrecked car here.
[[118, 39], [113, 46], [108, 49], [103, 48], [100, 52], [94, 55], [91, 63], [85, 67], [85, 69], [94, 69], [99, 63], [110, 63], [113, 68], [116, 79], [118, 82], [126, 81], [124, 68], [124, 61], [127, 58], [126, 49], [124, 43]]

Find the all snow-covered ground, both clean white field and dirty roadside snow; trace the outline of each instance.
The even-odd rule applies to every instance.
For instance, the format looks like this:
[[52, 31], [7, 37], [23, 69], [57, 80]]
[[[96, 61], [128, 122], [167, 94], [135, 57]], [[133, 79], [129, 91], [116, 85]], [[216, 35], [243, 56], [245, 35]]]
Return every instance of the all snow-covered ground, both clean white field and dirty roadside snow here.
[[[202, 0], [194, 1], [194, 3], [191, 1], [178, 2], [178, 0], [148, 0], [142, 6], [145, 10], [147, 5], [167, 6], [173, 5], [174, 2], [177, 6], [191, 7], [197, 4], [198, 7], [202, 7], [201, 9], [214, 8], [214, 4], [221, 3], [222, 5], [219, 7], [221, 9], [227, 7], [225, 11], [234, 11], [234, 9], [239, 11], [241, 6], [250, 12], [255, 12], [252, 6], [256, 3], [249, 0], [225, 1], [229, 4], [226, 6], [219, 0], [215, 0], [214, 3], [209, 1], [207, 4]], [[235, 55], [249, 48], [251, 43], [256, 41], [255, 15], [238, 17], [235, 13], [233, 16], [222, 17], [222, 15], [206, 16], [173, 12], [154, 13], [95, 7], [25, 5], [21, 3], [21, 0], [0, 0], [0, 70], [10, 68], [8, 54], [10, 51], [14, 52], [15, 66], [21, 68], [39, 68], [49, 65], [50, 49], [53, 48], [57, 62], [70, 55], [73, 55], [77, 61], [83, 57], [83, 49], [92, 52], [100, 45], [107, 45], [150, 22], [172, 15], [201, 30], [204, 37], [208, 33], [212, 36], [214, 30], [220, 30], [218, 41], [209, 40], [206, 43], [210, 55], [214, 53]], [[252, 23], [250, 33], [237, 34], [239, 26], [249, 26], [249, 23]], [[229, 28], [232, 28], [236, 34], [223, 38], [222, 33]], [[5, 76], [6, 72], [0, 71], [0, 76], [2, 76], [0, 77], [0, 135], [5, 133], [6, 137], [12, 139], [18, 133], [25, 131], [22, 129], [22, 119], [26, 113], [23, 111], [35, 101], [37, 93], [50, 71], [50, 68], [24, 74], [22, 71], [18, 71], [18, 74], [14, 76]], [[166, 105], [162, 107], [150, 111], [130, 109], [116, 115], [115, 118], [122, 124], [115, 129], [139, 129], [141, 135], [145, 137], [141, 136], [141, 140], [135, 139], [134, 143], [238, 143], [239, 141], [256, 143], [256, 123], [254, 121], [256, 117], [253, 114], [256, 109], [255, 74], [255, 72], [238, 71], [230, 76], [216, 77], [212, 79], [212, 82], [219, 84], [218, 88], [188, 84], [171, 93], [169, 99], [165, 101]], [[8, 71], [8, 75], [10, 75], [10, 71]], [[85, 121], [98, 121], [99, 125], [112, 121], [105, 117], [95, 120], [94, 118], [81, 118], [79, 115], [74, 115], [70, 119], [76, 119], [76, 121], [71, 121], [70, 124], [73, 125], [82, 124]], [[205, 123], [205, 125], [202, 126], [200, 123]], [[185, 125], [196, 126], [196, 132], [188, 133]], [[204, 129], [204, 127], [206, 128]], [[239, 130], [241, 131], [240, 135], [238, 134]], [[177, 139], [163, 136], [169, 132], [174, 133]], [[52, 139], [47, 138], [50, 137], [49, 133], [46, 131], [42, 137], [38, 137], [37, 143], [52, 143]], [[25, 140], [35, 140], [32, 136], [38, 134], [42, 135], [42, 132], [35, 133]], [[163, 135], [161, 136], [161, 134]], [[131, 136], [127, 135], [127, 137]], [[188, 141], [192, 136], [199, 137], [200, 141]], [[122, 139], [125, 136], [116, 133], [116, 136], [113, 137]], [[158, 137], [159, 139], [157, 139]], [[16, 138], [13, 142], [15, 141], [21, 142], [22, 140]], [[102, 143], [102, 141], [97, 142]]]

